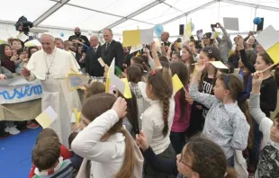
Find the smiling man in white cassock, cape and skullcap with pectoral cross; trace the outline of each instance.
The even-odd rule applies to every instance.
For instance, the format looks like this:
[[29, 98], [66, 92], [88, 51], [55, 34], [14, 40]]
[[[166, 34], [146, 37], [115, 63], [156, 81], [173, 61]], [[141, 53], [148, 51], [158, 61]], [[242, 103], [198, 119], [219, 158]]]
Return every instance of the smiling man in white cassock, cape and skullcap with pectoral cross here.
[[73, 108], [80, 109], [81, 103], [76, 91], [70, 92], [67, 87], [67, 75], [71, 69], [80, 68], [76, 59], [69, 52], [55, 47], [54, 37], [44, 33], [40, 37], [42, 50], [35, 52], [22, 75], [28, 81], [40, 79], [42, 85], [41, 109], [51, 106], [58, 113], [58, 118], [50, 126], [54, 129], [61, 143], [65, 146], [71, 133], [70, 116]]

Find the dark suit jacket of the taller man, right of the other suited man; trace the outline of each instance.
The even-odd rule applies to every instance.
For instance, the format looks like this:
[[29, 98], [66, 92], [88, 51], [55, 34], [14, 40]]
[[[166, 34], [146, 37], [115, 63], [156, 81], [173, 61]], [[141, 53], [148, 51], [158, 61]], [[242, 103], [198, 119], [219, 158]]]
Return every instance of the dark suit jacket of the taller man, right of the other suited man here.
[[111, 65], [113, 58], [115, 58], [115, 66], [122, 68], [124, 53], [120, 42], [112, 40], [111, 44], [105, 49], [106, 43], [103, 44], [101, 49], [101, 57], [108, 66]]

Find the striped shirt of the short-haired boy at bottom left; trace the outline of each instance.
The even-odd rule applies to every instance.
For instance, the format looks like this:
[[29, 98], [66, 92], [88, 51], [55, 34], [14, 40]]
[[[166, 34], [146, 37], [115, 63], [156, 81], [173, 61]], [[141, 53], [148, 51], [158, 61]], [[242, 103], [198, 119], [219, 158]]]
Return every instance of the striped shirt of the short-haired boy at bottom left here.
[[69, 159], [63, 161], [62, 165], [54, 174], [49, 175], [34, 175], [33, 178], [72, 178], [73, 165]]

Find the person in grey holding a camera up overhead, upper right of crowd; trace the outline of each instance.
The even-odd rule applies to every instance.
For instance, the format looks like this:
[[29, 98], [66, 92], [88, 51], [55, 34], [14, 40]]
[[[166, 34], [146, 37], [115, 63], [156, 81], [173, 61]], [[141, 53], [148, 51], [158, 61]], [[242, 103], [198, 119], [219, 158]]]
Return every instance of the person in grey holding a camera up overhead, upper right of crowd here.
[[224, 27], [221, 26], [220, 22], [217, 22], [215, 25], [211, 24], [212, 31], [215, 31], [215, 27], [220, 28], [220, 30], [223, 31], [222, 38], [220, 39], [220, 37], [217, 36], [216, 40], [218, 41], [218, 47], [220, 49], [221, 61], [223, 63], [227, 64], [228, 63], [229, 51], [232, 48], [232, 42], [229, 39], [228, 32], [224, 29]]

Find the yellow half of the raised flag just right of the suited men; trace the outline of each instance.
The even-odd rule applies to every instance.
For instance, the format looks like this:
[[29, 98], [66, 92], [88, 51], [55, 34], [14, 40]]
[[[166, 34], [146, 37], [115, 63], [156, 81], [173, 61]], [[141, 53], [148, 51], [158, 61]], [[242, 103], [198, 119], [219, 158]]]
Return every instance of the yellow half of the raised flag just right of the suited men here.
[[130, 47], [140, 44], [140, 31], [123, 31], [123, 47]]

